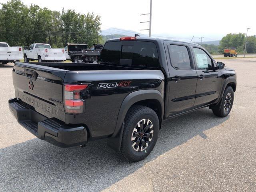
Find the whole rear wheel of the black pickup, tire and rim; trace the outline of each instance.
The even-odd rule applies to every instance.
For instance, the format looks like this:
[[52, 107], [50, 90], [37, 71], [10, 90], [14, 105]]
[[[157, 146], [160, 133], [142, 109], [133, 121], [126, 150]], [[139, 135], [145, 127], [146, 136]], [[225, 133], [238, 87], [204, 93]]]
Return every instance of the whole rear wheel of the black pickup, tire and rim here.
[[140, 161], [154, 148], [159, 132], [159, 119], [154, 110], [135, 105], [124, 120], [121, 153], [129, 161]]

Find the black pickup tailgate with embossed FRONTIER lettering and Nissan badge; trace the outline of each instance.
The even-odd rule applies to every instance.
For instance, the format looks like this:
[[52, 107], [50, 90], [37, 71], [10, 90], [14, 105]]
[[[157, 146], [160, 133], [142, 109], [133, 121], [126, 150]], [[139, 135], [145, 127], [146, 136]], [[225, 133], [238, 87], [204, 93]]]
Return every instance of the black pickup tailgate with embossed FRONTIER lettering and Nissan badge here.
[[16, 98], [48, 118], [65, 121], [63, 80], [66, 70], [17, 62], [12, 71]]

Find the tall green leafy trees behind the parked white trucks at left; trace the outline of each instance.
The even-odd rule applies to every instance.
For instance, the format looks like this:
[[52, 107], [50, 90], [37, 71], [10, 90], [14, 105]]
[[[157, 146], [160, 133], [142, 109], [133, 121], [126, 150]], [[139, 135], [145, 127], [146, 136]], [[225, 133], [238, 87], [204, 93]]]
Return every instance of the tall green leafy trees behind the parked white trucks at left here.
[[10, 46], [48, 43], [62, 48], [67, 43], [102, 42], [100, 16], [74, 10], [52, 11], [36, 4], [24, 5], [21, 0], [1, 3], [0, 41]]

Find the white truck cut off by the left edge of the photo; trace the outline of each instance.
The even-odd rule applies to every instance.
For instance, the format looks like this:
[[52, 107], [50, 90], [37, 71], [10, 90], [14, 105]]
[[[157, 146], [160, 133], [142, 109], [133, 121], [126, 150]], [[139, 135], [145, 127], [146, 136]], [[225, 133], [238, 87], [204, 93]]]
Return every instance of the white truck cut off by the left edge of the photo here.
[[22, 47], [10, 47], [8, 43], [0, 42], [0, 63], [16, 62], [22, 58]]

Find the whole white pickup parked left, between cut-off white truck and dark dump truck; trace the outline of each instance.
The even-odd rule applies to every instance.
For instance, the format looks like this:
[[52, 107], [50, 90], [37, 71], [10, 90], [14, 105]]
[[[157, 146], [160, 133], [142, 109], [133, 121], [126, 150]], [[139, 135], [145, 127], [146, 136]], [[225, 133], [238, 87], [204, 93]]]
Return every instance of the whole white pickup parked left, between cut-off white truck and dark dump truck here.
[[38, 60], [38, 62], [62, 62], [66, 60], [65, 50], [52, 49], [49, 44], [34, 43], [23, 52], [24, 62]]

